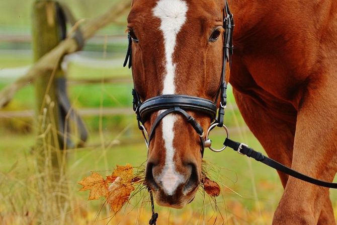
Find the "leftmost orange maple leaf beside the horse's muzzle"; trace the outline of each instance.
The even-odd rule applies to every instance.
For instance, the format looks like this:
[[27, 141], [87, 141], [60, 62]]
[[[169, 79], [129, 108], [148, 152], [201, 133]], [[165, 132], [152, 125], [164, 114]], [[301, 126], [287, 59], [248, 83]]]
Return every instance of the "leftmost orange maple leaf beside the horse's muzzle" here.
[[90, 190], [89, 200], [99, 199], [108, 193], [108, 183], [98, 173], [92, 173], [91, 176], [83, 178], [78, 184], [83, 186], [79, 191]]

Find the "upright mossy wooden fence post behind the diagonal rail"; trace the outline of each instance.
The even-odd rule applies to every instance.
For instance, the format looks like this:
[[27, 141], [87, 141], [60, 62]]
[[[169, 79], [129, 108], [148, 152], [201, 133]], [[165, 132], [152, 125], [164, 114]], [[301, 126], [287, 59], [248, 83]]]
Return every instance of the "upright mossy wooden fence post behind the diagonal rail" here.
[[[33, 6], [32, 26], [34, 61], [38, 61], [65, 38], [64, 18], [59, 15], [58, 3], [49, 0], [36, 1]], [[43, 217], [47, 216], [45, 214], [50, 217], [62, 214], [68, 196], [65, 182], [66, 151], [61, 151], [63, 142], [59, 132], [60, 111], [57, 100], [56, 79], [64, 77], [60, 62], [61, 60], [55, 61], [53, 71], [41, 74], [35, 81], [39, 133], [35, 155], [39, 157], [39, 172], [44, 175], [44, 187], [39, 188], [43, 192], [41, 195], [44, 195], [42, 198], [49, 199], [49, 204], [54, 205], [47, 213], [45, 208], [41, 209]]]

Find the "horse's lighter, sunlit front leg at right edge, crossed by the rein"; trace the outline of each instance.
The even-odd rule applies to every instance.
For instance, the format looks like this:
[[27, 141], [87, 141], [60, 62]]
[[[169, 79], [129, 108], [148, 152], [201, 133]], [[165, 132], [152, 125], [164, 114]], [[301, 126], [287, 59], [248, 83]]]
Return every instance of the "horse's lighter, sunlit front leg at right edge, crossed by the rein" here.
[[[332, 182], [337, 170], [333, 76], [310, 84], [298, 109], [292, 169]], [[273, 224], [335, 224], [329, 189], [289, 177]]]

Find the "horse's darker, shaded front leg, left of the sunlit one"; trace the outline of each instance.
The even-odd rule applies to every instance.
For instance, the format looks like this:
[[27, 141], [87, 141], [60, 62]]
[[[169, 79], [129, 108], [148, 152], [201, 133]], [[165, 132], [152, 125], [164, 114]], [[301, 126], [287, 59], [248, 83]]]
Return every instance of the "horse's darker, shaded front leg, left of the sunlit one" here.
[[[286, 121], [282, 116], [276, 117], [249, 94], [233, 89], [235, 101], [250, 131], [258, 138], [268, 156], [283, 165], [291, 167], [295, 138], [296, 112], [292, 119]], [[282, 107], [281, 107], [282, 108]], [[288, 175], [279, 172], [283, 187]]]

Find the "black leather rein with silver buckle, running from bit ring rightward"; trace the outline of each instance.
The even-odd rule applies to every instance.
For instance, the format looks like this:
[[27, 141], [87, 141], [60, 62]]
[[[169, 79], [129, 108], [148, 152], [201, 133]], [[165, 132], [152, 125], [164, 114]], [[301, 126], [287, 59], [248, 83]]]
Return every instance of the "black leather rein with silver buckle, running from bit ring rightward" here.
[[259, 161], [263, 164], [266, 164], [269, 167], [272, 167], [278, 171], [281, 171], [285, 174], [288, 174], [289, 176], [295, 177], [297, 179], [300, 179], [302, 181], [309, 182], [311, 184], [319, 185], [322, 187], [327, 187], [327, 188], [334, 188], [337, 189], [337, 183], [330, 183], [322, 180], [318, 180], [312, 177], [309, 177], [307, 175], [301, 174], [287, 166], [284, 166], [283, 164], [276, 162], [275, 160], [272, 160], [268, 158], [267, 156], [264, 156], [262, 153], [259, 153], [255, 151], [254, 149], [248, 147], [247, 145], [243, 143], [239, 143], [233, 140], [230, 140], [226, 138], [225, 142], [223, 143], [224, 145], [232, 148], [234, 151], [237, 151], [241, 153], [242, 155], [245, 155], [247, 157], [251, 157], [255, 159], [256, 161]]

